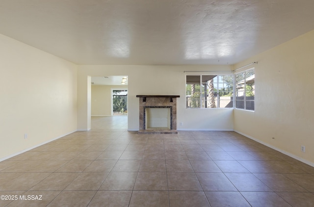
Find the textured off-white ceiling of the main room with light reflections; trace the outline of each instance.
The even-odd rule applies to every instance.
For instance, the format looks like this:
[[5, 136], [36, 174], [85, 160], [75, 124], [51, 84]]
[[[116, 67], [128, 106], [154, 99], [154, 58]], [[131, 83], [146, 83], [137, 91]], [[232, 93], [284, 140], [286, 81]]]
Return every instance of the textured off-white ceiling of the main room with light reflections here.
[[314, 0], [1, 0], [0, 33], [77, 64], [234, 64], [314, 29]]

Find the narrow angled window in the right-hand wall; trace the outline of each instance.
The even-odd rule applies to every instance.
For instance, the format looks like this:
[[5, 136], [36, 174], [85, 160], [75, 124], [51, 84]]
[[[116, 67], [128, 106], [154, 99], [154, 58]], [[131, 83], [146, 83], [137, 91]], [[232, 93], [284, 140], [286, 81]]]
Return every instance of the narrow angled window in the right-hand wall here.
[[254, 110], [255, 71], [235, 74], [235, 108]]

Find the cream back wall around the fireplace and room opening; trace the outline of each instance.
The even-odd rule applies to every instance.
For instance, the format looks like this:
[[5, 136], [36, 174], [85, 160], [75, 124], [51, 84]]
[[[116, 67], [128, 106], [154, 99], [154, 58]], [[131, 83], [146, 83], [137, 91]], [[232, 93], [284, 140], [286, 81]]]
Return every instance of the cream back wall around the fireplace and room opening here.
[[[186, 109], [184, 71], [231, 71], [231, 66], [79, 65], [78, 129], [89, 129], [88, 76], [128, 76], [128, 129], [139, 129], [139, 98], [136, 95], [180, 95], [177, 101], [178, 130], [232, 130], [232, 109]], [[193, 74], [193, 73], [189, 73]], [[196, 72], [194, 73], [196, 74]]]

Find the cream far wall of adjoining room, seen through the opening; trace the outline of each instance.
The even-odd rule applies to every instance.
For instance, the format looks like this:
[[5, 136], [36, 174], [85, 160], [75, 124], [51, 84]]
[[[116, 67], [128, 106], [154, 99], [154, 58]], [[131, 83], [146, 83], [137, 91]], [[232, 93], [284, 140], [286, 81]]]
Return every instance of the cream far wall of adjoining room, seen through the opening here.
[[126, 85], [92, 85], [92, 116], [111, 116], [111, 89], [128, 88]]

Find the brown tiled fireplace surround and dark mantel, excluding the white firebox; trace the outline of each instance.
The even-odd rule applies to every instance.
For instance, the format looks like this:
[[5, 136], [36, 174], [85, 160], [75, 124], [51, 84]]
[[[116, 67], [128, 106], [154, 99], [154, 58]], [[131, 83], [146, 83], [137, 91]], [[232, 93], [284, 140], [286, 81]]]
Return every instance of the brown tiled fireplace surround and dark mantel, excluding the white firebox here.
[[[142, 96], [139, 97], [139, 133], [177, 133], [177, 99], [179, 96]], [[170, 108], [172, 114], [170, 130], [145, 129], [146, 108]]]

